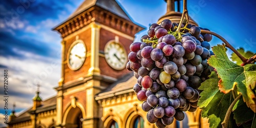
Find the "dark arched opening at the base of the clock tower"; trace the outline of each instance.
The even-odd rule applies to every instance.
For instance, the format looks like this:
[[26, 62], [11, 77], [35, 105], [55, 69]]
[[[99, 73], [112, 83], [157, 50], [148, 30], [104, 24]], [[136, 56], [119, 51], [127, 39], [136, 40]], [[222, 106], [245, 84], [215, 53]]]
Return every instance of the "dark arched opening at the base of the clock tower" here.
[[82, 128], [82, 111], [80, 108], [71, 108], [67, 118], [66, 118], [66, 127], [70, 128]]

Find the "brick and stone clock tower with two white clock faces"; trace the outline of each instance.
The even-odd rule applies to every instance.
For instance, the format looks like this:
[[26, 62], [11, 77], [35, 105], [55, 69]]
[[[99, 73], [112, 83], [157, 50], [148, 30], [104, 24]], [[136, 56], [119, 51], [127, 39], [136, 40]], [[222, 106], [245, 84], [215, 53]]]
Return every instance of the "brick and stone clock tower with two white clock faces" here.
[[62, 37], [58, 127], [102, 127], [94, 96], [129, 73], [127, 54], [142, 29], [115, 0], [86, 0], [54, 28]]

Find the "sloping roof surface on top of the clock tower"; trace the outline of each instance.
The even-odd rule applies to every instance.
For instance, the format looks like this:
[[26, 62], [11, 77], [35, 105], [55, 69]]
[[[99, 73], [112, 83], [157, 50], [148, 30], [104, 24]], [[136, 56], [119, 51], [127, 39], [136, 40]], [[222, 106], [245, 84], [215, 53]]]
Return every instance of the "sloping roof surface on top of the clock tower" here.
[[129, 20], [130, 22], [132, 21], [131, 18], [125, 13], [122, 7], [115, 0], [86, 0], [76, 9], [74, 13], [69, 16], [68, 20], [82, 13], [83, 11], [86, 11], [87, 9], [93, 7], [94, 5], [108, 10], [113, 14]]

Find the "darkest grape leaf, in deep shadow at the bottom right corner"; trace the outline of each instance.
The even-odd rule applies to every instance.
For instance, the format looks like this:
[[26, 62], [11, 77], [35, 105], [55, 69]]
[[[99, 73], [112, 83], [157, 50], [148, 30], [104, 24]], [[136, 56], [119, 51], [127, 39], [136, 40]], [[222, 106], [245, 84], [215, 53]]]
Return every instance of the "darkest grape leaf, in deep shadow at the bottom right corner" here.
[[240, 98], [233, 107], [234, 119], [238, 126], [253, 119], [254, 113], [247, 107], [243, 98]]

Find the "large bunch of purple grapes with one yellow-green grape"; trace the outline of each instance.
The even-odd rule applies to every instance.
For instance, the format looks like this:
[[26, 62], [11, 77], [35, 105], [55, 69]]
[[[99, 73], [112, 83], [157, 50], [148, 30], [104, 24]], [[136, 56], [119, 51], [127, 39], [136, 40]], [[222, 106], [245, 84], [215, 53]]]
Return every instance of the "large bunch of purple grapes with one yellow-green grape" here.
[[214, 70], [207, 64], [213, 55], [209, 51], [212, 36], [194, 25], [182, 25], [179, 32], [177, 27], [169, 19], [152, 24], [140, 42], [131, 44], [126, 64], [137, 78], [133, 89], [143, 101], [148, 122], [158, 127], [183, 120], [183, 112], [196, 111], [198, 88]]

